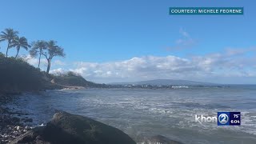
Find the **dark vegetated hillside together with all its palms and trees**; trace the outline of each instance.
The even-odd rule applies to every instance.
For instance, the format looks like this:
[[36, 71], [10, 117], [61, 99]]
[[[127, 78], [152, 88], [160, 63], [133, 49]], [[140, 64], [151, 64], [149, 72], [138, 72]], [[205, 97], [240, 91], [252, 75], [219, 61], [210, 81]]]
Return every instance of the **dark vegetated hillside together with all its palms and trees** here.
[[[18, 31], [7, 28], [0, 33], [0, 42], [6, 42], [6, 54], [0, 52], [0, 93], [19, 93], [31, 90], [60, 89], [69, 86], [106, 87], [88, 82], [78, 74], [49, 74], [52, 59], [65, 57], [64, 49], [54, 40], [38, 40], [29, 44], [25, 37], [19, 37]], [[4, 47], [4, 46], [3, 46]], [[12, 57], [8, 51], [16, 48]], [[24, 58], [18, 57], [21, 48], [29, 50], [33, 58], [38, 58], [38, 68], [31, 66]], [[40, 70], [41, 57], [47, 61], [46, 72]]]

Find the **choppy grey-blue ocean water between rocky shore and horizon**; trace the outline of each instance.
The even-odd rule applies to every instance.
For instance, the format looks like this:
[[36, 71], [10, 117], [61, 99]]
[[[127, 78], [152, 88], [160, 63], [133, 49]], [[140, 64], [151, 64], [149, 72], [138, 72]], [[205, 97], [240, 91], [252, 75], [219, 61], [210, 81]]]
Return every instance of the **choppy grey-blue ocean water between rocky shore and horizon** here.
[[[8, 106], [33, 118], [32, 126], [65, 110], [114, 126], [137, 141], [163, 135], [184, 143], [256, 143], [256, 86], [50, 90], [22, 94]], [[219, 111], [241, 112], [241, 126], [195, 122], [196, 114], [217, 116]]]

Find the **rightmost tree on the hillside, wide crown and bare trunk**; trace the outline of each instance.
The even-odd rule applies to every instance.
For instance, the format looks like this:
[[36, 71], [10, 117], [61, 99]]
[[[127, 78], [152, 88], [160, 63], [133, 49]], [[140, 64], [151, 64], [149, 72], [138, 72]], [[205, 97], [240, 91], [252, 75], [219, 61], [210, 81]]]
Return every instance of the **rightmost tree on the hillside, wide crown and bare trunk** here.
[[50, 40], [49, 42], [46, 43], [46, 52], [42, 52], [42, 55], [44, 55], [47, 59], [47, 70], [46, 73], [49, 74], [50, 71], [50, 64], [51, 60], [55, 56], [60, 56], [60, 57], [65, 57], [64, 50], [62, 47], [57, 46], [57, 42]]

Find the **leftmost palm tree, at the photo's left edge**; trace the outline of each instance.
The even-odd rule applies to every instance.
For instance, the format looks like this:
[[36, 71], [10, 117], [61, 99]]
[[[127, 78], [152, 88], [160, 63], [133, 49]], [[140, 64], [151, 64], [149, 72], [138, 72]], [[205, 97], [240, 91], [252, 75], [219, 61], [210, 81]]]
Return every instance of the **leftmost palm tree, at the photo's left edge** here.
[[6, 57], [8, 55], [8, 50], [11, 48], [11, 45], [14, 42], [14, 38], [17, 37], [17, 34], [18, 34], [18, 31], [10, 29], [10, 28], [2, 31], [0, 34], [0, 42], [2, 42], [2, 41], [8, 42], [7, 50], [6, 50]]

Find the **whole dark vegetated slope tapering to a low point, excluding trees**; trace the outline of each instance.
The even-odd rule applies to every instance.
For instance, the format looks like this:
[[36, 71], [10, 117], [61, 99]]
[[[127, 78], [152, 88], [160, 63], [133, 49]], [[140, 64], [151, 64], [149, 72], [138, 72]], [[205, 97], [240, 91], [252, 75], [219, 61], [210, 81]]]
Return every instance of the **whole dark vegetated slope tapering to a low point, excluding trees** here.
[[22, 58], [6, 58], [0, 53], [0, 92], [17, 93], [34, 90], [69, 88], [69, 86], [106, 87], [86, 81], [82, 76], [66, 74], [47, 74], [35, 68]]

